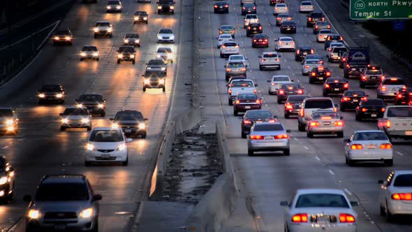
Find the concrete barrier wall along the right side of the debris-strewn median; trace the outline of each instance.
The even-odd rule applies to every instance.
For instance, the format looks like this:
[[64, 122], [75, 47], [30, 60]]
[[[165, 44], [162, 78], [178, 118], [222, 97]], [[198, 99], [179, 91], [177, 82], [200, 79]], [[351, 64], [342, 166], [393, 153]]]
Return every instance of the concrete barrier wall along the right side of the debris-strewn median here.
[[223, 124], [216, 124], [219, 152], [224, 171], [186, 219], [186, 231], [220, 231], [230, 217], [237, 198], [237, 187], [230, 152], [223, 135]]

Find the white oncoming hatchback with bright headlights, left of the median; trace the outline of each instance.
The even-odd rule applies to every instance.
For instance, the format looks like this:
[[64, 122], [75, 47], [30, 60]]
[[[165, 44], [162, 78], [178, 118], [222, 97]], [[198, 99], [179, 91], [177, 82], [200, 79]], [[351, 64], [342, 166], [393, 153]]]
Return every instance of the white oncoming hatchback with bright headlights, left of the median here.
[[128, 164], [126, 143], [131, 141], [131, 138], [126, 138], [122, 128], [95, 127], [87, 139], [84, 164], [90, 166], [93, 162], [121, 162], [126, 166]]

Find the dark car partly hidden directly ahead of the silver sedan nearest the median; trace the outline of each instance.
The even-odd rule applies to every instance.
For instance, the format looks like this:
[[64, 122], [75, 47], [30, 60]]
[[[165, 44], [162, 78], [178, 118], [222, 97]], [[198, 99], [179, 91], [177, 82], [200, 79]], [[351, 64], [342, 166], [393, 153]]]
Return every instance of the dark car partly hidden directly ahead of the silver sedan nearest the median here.
[[240, 125], [242, 138], [246, 138], [251, 127], [256, 122], [274, 122], [276, 118], [269, 110], [247, 110], [243, 115], [242, 124]]

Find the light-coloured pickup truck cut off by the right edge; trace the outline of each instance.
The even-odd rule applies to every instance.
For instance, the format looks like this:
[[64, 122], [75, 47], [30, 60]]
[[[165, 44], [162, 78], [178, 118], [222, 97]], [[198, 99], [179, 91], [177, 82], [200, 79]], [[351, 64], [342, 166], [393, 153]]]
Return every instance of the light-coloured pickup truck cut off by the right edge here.
[[382, 119], [378, 120], [378, 129], [388, 138], [412, 138], [412, 106], [388, 106]]

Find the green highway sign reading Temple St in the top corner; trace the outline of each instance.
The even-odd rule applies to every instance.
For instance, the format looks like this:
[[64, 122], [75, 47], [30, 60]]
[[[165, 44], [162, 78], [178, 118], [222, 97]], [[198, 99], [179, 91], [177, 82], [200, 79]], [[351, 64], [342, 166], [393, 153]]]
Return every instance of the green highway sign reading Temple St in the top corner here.
[[412, 0], [351, 0], [351, 20], [412, 19]]

